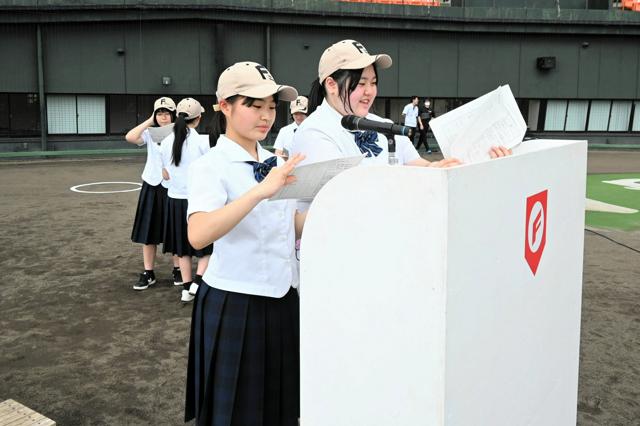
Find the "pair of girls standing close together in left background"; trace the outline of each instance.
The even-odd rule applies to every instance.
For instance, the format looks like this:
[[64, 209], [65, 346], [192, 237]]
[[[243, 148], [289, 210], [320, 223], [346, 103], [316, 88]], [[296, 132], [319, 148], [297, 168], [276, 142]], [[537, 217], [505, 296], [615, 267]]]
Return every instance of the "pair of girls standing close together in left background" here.
[[[142, 172], [142, 188], [134, 219], [131, 240], [143, 244], [144, 272], [133, 285], [134, 290], [146, 290], [156, 283], [154, 272], [157, 246], [173, 255], [173, 284], [183, 286], [181, 300], [195, 298], [202, 275], [209, 263], [213, 246], [196, 250], [187, 236], [187, 170], [198, 157], [209, 151], [209, 139], [196, 131], [204, 108], [193, 98], [175, 104], [162, 97], [155, 101], [149, 119], [131, 129], [125, 139], [147, 145], [147, 162]], [[172, 125], [172, 132], [161, 142], [155, 142], [149, 127]], [[192, 279], [191, 258], [198, 258]]]

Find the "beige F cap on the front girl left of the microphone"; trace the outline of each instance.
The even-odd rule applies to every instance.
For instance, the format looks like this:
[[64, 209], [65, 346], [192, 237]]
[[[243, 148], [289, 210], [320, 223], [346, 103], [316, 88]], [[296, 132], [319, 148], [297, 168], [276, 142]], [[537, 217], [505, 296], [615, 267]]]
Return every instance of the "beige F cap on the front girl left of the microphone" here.
[[218, 79], [218, 100], [234, 95], [262, 99], [277, 93], [283, 101], [295, 101], [298, 91], [277, 84], [264, 66], [257, 62], [236, 62], [224, 70]]

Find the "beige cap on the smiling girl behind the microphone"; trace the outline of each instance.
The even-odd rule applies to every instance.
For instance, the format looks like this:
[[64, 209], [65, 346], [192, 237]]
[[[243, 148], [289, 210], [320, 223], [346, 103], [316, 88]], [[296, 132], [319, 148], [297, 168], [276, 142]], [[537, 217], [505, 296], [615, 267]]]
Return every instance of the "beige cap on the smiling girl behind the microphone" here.
[[342, 40], [329, 46], [320, 57], [318, 79], [322, 83], [338, 70], [359, 70], [375, 63], [380, 69], [389, 68], [391, 56], [382, 53], [369, 55], [362, 43], [355, 40]]

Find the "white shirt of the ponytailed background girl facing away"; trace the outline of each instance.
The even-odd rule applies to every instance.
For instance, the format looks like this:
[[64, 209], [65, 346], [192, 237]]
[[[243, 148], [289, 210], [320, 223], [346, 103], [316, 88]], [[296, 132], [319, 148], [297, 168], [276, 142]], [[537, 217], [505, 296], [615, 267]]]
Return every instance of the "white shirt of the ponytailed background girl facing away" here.
[[187, 138], [182, 144], [182, 156], [180, 165], [176, 166], [171, 161], [173, 151], [174, 133], [162, 140], [160, 152], [162, 154], [162, 167], [169, 173], [169, 189], [167, 195], [171, 198], [187, 198], [187, 169], [196, 159], [209, 152], [209, 139], [200, 136], [196, 129], [189, 129]]

